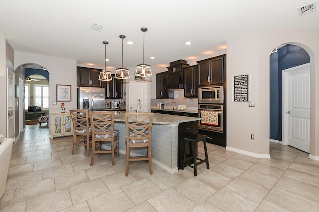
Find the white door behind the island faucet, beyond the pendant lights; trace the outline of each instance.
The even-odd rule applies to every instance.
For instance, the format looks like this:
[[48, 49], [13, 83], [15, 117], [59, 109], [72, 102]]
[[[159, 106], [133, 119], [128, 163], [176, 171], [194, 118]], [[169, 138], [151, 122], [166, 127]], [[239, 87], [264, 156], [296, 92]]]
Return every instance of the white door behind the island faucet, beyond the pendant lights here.
[[137, 101], [140, 99], [141, 108], [139, 107], [139, 111], [141, 112], [150, 112], [150, 98], [148, 92], [148, 82], [130, 82], [129, 83], [129, 110], [135, 111], [137, 106]]

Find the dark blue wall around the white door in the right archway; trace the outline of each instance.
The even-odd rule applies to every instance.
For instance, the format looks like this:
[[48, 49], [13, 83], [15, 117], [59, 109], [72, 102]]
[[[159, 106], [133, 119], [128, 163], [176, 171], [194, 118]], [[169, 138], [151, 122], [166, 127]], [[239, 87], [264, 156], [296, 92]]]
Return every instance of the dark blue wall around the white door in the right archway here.
[[308, 53], [291, 44], [270, 55], [270, 139], [282, 141], [282, 70], [309, 62]]

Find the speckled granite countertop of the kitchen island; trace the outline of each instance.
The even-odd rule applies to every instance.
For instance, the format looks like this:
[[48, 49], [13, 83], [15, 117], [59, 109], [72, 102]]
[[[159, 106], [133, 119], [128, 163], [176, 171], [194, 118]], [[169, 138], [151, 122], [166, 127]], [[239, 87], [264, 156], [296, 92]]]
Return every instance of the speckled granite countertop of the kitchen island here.
[[[114, 112], [114, 121], [125, 122], [125, 120], [124, 120], [125, 113], [135, 113], [135, 112], [115, 111]], [[200, 118], [198, 118], [198, 117], [176, 116], [176, 115], [154, 113], [152, 123], [153, 124], [161, 124], [161, 125], [170, 125], [170, 124], [175, 124], [175, 123], [192, 122], [192, 121], [198, 121], [198, 120], [200, 120]]]

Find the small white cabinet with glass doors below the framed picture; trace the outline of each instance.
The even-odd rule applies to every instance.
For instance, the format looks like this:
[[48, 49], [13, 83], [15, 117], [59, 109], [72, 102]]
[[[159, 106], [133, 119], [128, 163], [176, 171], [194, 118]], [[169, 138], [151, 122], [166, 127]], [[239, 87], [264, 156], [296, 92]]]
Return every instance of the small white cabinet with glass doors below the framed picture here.
[[51, 113], [51, 139], [72, 136], [73, 124], [70, 113]]

